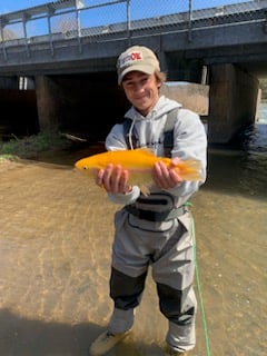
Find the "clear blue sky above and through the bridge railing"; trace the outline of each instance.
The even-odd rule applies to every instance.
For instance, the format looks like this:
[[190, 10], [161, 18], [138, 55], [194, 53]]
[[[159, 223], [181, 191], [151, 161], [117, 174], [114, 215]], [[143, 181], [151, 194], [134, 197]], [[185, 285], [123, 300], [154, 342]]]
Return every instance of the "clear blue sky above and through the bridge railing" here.
[[[77, 0], [83, 2], [86, 7], [92, 7], [99, 3], [108, 3], [112, 0]], [[249, 0], [248, 0], [249, 1]], [[27, 8], [37, 7], [48, 2], [57, 2], [57, 0], [0, 0], [0, 16]], [[246, 2], [244, 0], [191, 0], [192, 10], [205, 9], [211, 7], [221, 7], [229, 3]], [[140, 6], [141, 4], [141, 6]], [[188, 11], [189, 0], [130, 0], [130, 20], [140, 20], [146, 18], [155, 18], [164, 14]], [[77, 23], [75, 12], [60, 14], [57, 12], [51, 17], [52, 32], [71, 30], [70, 26]], [[109, 26], [112, 23], [125, 22], [127, 19], [126, 2], [111, 4], [110, 7], [97, 7], [93, 9], [83, 9], [79, 11], [80, 28], [92, 28], [100, 26]], [[73, 28], [72, 28], [73, 29]], [[4, 27], [9, 33], [16, 33], [23, 37], [22, 22], [9, 23]], [[27, 37], [48, 34], [48, 21], [42, 17], [39, 19], [30, 19], [27, 22]]]

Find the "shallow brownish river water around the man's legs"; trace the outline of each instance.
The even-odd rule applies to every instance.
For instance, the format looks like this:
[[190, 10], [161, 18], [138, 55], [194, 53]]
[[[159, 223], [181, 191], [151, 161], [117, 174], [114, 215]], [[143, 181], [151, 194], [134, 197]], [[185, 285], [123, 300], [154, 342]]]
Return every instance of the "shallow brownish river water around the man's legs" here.
[[[199, 299], [192, 356], [267, 353], [267, 125], [246, 150], [209, 149], [191, 198]], [[91, 148], [0, 164], [0, 355], [83, 356], [103, 330], [118, 206], [73, 170]], [[202, 308], [200, 307], [202, 305]], [[110, 356], [160, 356], [166, 320], [148, 277], [132, 334]]]

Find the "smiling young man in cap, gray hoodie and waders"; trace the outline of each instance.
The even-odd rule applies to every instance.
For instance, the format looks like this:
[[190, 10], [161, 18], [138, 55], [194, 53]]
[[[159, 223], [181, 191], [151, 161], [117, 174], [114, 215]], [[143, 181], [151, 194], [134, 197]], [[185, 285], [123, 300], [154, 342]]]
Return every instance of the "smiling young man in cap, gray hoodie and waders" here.
[[[166, 355], [187, 355], [196, 344], [197, 301], [192, 289], [194, 238], [187, 200], [206, 179], [207, 137], [199, 116], [159, 95], [166, 80], [155, 53], [140, 46], [118, 58], [118, 82], [131, 103], [125, 117], [131, 120], [130, 148], [146, 147], [165, 155], [165, 125], [176, 110], [171, 159], [201, 162], [200, 181], [182, 181], [174, 167], [158, 162], [152, 169], [155, 185], [144, 196], [128, 184], [129, 172], [108, 165], [98, 171], [96, 182], [123, 208], [115, 216], [115, 239], [110, 275], [113, 312], [107, 330], [90, 346], [91, 356], [105, 355], [132, 328], [135, 308], [140, 304], [148, 267], [157, 284], [160, 312], [168, 318]], [[134, 147], [135, 141], [135, 147]], [[107, 150], [128, 149], [123, 125], [115, 125], [106, 139]]]

